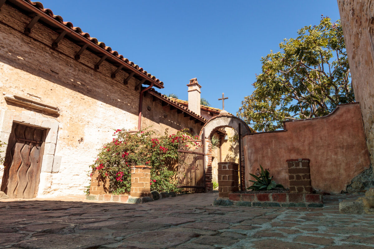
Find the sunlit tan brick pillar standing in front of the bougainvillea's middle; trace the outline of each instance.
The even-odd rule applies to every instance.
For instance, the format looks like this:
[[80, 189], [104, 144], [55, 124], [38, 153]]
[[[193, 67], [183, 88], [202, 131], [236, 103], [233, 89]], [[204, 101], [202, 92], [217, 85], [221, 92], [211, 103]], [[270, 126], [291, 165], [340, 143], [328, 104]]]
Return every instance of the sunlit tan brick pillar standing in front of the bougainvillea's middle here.
[[137, 165], [131, 167], [130, 196], [151, 196], [151, 166]]

